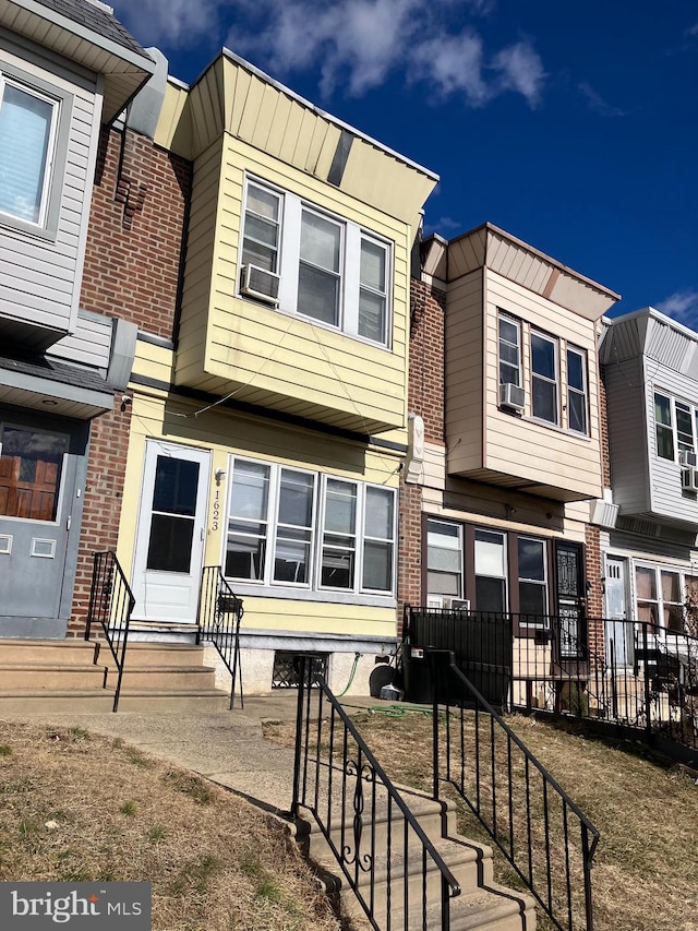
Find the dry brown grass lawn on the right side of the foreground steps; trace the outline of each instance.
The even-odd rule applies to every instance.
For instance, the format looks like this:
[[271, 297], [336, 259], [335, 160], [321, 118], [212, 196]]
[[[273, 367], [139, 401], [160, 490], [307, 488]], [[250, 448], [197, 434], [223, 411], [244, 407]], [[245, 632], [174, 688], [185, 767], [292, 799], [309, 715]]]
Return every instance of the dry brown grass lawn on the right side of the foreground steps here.
[[[540, 719], [515, 716], [507, 721], [600, 831], [592, 870], [594, 931], [698, 931], [698, 786], [694, 780], [675, 767], [652, 762], [635, 744], [583, 736]], [[431, 717], [374, 714], [359, 716], [354, 723], [390, 778], [431, 790]], [[290, 738], [287, 726], [267, 732], [282, 742]], [[505, 773], [504, 745], [497, 745], [497, 769]], [[502, 785], [498, 779], [501, 815]], [[515, 808], [520, 819], [521, 799], [519, 790]], [[537, 814], [540, 829], [542, 812]], [[460, 829], [488, 843], [465, 805]], [[553, 863], [555, 857], [563, 862], [562, 845], [553, 849]], [[504, 868], [498, 878], [508, 885], [515, 883]], [[582, 902], [578, 885], [579, 907]], [[551, 926], [539, 918], [538, 927], [546, 931]]]

